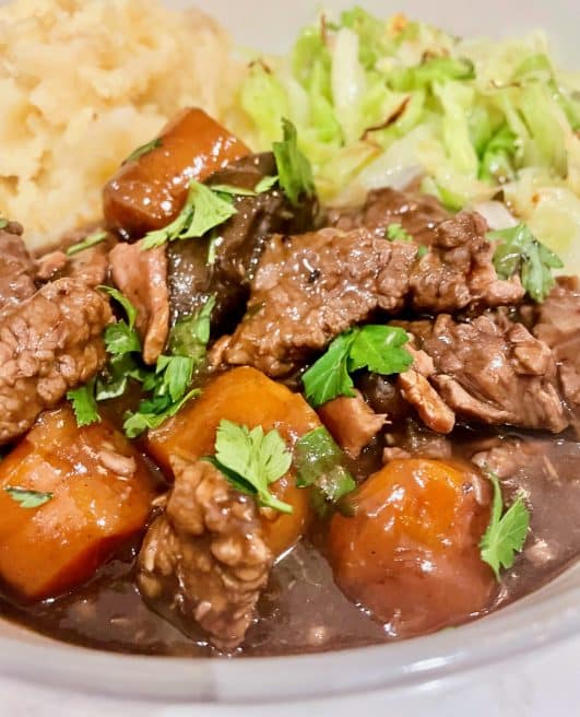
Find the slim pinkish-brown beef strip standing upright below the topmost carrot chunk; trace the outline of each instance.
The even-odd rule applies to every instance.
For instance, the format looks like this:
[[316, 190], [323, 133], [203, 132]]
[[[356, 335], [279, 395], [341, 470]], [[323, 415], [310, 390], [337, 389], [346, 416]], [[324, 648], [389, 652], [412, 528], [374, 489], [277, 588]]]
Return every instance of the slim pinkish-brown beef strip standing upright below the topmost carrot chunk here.
[[154, 364], [169, 333], [169, 293], [165, 247], [144, 251], [142, 242], [118, 244], [109, 255], [113, 281], [137, 308], [143, 360]]

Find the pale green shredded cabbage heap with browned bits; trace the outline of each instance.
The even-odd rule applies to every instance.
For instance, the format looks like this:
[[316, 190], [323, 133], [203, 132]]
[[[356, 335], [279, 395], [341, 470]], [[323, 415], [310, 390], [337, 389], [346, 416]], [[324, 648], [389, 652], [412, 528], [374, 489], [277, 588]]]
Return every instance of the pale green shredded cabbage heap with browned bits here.
[[256, 150], [294, 122], [327, 203], [418, 178], [452, 210], [502, 190], [568, 260], [580, 242], [580, 77], [540, 33], [462, 40], [402, 15], [324, 13], [288, 56], [252, 62], [240, 104]]

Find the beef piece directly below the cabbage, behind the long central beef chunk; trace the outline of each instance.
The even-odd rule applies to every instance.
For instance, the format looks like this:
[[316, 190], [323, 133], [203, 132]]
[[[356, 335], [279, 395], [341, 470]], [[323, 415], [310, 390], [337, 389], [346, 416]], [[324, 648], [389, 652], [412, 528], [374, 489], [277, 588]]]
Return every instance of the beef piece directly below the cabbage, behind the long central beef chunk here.
[[370, 191], [360, 208], [330, 209], [324, 223], [344, 232], [365, 227], [381, 239], [391, 224], [400, 224], [414, 242], [429, 246], [435, 244], [437, 225], [451, 216], [430, 195], [384, 188]]

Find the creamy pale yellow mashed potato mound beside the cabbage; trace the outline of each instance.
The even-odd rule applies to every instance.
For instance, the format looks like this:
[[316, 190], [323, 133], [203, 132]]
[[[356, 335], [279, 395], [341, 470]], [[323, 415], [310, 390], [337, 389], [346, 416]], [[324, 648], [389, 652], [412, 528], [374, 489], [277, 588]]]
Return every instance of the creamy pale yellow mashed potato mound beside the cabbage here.
[[98, 216], [100, 187], [180, 107], [224, 118], [227, 35], [157, 0], [16, 0], [0, 9], [0, 213], [32, 247]]

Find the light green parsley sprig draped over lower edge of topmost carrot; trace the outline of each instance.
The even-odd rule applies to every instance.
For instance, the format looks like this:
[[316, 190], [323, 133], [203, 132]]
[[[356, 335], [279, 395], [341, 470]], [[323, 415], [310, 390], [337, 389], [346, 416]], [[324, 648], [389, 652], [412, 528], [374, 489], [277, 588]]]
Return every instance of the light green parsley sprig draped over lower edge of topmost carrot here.
[[142, 248], [153, 249], [166, 242], [202, 237], [236, 213], [230, 195], [214, 191], [192, 179], [184, 209], [164, 228], [145, 234]]

